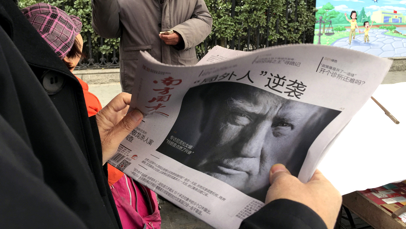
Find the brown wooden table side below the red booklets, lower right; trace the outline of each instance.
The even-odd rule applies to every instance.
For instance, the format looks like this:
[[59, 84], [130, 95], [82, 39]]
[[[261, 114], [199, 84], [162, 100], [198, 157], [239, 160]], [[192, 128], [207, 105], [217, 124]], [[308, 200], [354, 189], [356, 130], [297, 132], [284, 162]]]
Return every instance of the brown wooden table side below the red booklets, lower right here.
[[406, 224], [402, 220], [392, 218], [392, 213], [369, 200], [361, 192], [343, 195], [343, 205], [374, 229], [406, 229]]

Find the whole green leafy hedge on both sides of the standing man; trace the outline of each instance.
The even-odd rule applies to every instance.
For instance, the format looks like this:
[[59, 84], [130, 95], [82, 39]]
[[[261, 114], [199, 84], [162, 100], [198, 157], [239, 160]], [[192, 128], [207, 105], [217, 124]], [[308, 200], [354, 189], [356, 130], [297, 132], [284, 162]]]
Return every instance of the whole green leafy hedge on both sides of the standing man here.
[[[288, 14], [286, 4], [289, 2]], [[275, 41], [289, 43], [301, 43], [304, 31], [314, 29], [316, 11], [314, 0], [297, 0], [297, 19], [295, 19], [296, 0], [236, 0], [235, 16], [231, 17], [231, 0], [205, 0], [213, 17], [212, 33], [207, 37], [206, 44], [213, 46], [215, 41], [226, 46], [226, 41], [235, 35], [238, 39], [246, 42], [248, 28], [252, 42], [255, 42], [255, 34], [261, 35], [261, 44], [268, 39], [270, 44]], [[18, 5], [24, 8], [36, 2], [46, 2], [61, 9], [68, 14], [77, 15], [83, 23], [82, 36], [85, 46], [88, 41], [87, 34], [90, 32], [93, 53], [111, 54], [113, 47], [118, 50], [120, 39], [104, 39], [104, 45], [100, 46], [100, 36], [91, 27], [91, 0], [19, 0]], [[270, 19], [267, 25], [267, 10], [270, 9]], [[279, 33], [276, 33], [276, 20], [279, 20]], [[266, 37], [266, 28], [269, 27], [269, 36]], [[308, 41], [312, 42], [312, 41]], [[204, 52], [204, 43], [197, 46], [197, 53]], [[85, 50], [86, 51], [86, 50]]]

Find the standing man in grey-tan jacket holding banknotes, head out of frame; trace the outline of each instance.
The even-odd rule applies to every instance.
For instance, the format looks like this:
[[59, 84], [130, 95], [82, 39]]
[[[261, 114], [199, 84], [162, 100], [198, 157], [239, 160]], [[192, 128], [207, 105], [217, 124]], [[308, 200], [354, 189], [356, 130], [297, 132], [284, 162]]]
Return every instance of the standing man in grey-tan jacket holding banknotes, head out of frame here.
[[[120, 80], [132, 93], [140, 51], [162, 63], [194, 65], [195, 46], [212, 31], [204, 0], [92, 0], [92, 26], [104, 38], [120, 40]], [[175, 33], [162, 35], [162, 31]]]

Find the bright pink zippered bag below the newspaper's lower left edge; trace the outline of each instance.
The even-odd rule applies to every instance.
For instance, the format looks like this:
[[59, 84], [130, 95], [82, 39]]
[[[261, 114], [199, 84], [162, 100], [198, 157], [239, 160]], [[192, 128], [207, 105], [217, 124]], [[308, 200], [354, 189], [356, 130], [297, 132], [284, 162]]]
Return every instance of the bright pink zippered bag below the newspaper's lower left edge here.
[[[156, 195], [149, 188], [136, 183], [124, 174], [110, 186], [123, 229], [160, 229], [161, 216]], [[140, 198], [145, 196], [144, 205]], [[149, 211], [148, 211], [149, 209]], [[152, 212], [149, 215], [148, 212]], [[145, 216], [145, 217], [142, 217]]]

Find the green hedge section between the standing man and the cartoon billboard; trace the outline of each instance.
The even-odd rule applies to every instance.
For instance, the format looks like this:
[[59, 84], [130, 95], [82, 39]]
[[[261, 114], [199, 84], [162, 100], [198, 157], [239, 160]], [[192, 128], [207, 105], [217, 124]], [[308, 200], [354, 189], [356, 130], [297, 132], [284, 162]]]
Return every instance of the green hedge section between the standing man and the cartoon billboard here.
[[[289, 2], [288, 15], [286, 15], [287, 1]], [[260, 34], [262, 47], [265, 41], [270, 44], [276, 41], [287, 39], [287, 43], [302, 43], [304, 31], [312, 33], [314, 29], [316, 9], [314, 1], [298, 0], [297, 19], [295, 20], [295, 0], [236, 0], [235, 16], [231, 17], [231, 0], [205, 0], [207, 7], [213, 17], [212, 33], [207, 37], [206, 43], [213, 45], [213, 41], [225, 46], [225, 41], [231, 40], [233, 36], [242, 38], [241, 43], [246, 44], [248, 28], [250, 29], [251, 42], [256, 42], [256, 33]], [[267, 23], [269, 10], [270, 17]], [[276, 21], [279, 21], [278, 33], [276, 33]], [[267, 28], [269, 35], [266, 37]], [[309, 41], [312, 42], [312, 41]], [[229, 44], [229, 43], [228, 43]], [[197, 46], [197, 52], [204, 50], [204, 44]]]

